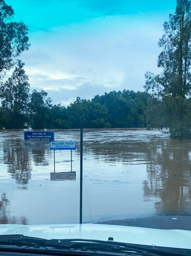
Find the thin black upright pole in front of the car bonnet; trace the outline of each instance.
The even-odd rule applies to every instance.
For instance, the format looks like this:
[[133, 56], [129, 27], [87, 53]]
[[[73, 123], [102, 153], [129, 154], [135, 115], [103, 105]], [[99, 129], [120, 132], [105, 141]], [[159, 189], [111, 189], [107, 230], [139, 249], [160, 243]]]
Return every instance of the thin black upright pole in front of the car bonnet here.
[[80, 129], [80, 224], [82, 224], [82, 179], [83, 179], [83, 126]]

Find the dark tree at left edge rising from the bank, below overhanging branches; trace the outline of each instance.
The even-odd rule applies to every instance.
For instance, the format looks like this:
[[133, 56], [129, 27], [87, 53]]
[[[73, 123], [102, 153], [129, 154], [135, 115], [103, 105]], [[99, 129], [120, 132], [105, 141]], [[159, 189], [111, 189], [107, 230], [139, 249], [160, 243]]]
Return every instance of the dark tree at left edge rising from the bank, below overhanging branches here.
[[23, 128], [27, 112], [30, 85], [24, 71], [24, 63], [17, 62], [11, 77], [0, 86], [1, 106], [7, 128]]

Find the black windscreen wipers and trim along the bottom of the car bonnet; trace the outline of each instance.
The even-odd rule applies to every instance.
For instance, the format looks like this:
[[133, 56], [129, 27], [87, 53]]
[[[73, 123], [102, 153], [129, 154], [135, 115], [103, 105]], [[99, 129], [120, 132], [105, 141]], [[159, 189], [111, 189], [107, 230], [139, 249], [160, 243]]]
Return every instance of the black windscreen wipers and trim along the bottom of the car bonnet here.
[[16, 235], [0, 235], [0, 248], [1, 245], [17, 246], [23, 249], [56, 249], [66, 250], [68, 252], [96, 252], [96, 253], [116, 253], [125, 255], [191, 255], [189, 249], [179, 249], [171, 247], [156, 247], [140, 244], [128, 244], [115, 241], [103, 241], [93, 239], [43, 239], [38, 237], [28, 237], [21, 234]]

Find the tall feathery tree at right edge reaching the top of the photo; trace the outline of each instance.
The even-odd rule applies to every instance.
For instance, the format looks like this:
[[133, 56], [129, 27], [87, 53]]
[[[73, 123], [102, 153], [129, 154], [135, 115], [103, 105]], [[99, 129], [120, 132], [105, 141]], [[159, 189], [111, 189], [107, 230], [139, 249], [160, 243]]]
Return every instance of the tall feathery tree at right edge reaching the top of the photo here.
[[[163, 48], [158, 57], [159, 75], [145, 74], [145, 90], [152, 91], [158, 100], [163, 123], [168, 124], [172, 137], [191, 137], [191, 3], [190, 0], [177, 0], [174, 14], [164, 23], [164, 35], [158, 45]], [[151, 106], [151, 105], [150, 105]], [[162, 107], [161, 107], [162, 106]], [[148, 119], [154, 114], [150, 108]], [[152, 119], [152, 118], [151, 118]], [[160, 124], [150, 120], [153, 127]]]

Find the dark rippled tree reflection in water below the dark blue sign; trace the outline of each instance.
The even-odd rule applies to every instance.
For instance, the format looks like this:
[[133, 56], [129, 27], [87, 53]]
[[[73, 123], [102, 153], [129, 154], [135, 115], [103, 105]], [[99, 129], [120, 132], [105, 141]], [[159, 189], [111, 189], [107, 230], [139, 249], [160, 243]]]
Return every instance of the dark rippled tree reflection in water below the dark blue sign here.
[[[19, 184], [28, 184], [31, 179], [32, 164], [46, 166], [51, 154], [48, 142], [27, 141], [22, 139], [7, 139], [3, 145], [3, 162], [7, 164], [7, 171]], [[27, 187], [22, 187], [26, 189]]]

